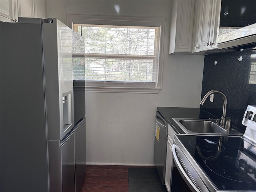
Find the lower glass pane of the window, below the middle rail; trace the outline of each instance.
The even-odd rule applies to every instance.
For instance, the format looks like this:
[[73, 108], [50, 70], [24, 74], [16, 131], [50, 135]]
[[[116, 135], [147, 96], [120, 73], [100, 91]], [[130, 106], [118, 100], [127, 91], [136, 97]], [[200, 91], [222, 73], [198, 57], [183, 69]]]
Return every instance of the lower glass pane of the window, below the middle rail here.
[[86, 79], [122, 82], [155, 82], [153, 60], [86, 58]]

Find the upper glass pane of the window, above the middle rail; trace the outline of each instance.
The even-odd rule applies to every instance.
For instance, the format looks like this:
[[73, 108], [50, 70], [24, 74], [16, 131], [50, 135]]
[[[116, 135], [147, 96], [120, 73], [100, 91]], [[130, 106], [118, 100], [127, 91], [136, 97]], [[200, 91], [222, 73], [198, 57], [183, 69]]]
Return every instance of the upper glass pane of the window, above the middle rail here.
[[157, 28], [78, 26], [87, 53], [154, 55]]

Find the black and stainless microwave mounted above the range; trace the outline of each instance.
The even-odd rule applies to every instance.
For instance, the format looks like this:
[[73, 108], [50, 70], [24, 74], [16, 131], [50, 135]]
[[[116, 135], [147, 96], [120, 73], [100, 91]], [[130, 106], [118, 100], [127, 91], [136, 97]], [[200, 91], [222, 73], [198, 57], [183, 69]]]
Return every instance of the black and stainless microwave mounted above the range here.
[[218, 49], [256, 47], [256, 0], [222, 0], [219, 13]]

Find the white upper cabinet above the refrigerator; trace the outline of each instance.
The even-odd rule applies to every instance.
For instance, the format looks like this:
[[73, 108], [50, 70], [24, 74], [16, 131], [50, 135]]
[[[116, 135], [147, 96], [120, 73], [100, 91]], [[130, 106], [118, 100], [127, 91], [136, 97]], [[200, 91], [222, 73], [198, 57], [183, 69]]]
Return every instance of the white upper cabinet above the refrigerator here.
[[0, 0], [0, 21], [13, 22], [18, 17], [45, 18], [45, 0]]

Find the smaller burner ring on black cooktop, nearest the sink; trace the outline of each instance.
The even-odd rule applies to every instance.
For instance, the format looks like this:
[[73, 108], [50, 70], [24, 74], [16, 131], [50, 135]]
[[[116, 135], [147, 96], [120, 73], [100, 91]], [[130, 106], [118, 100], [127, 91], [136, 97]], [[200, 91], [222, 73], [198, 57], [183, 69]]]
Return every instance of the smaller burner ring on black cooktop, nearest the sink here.
[[209, 139], [191, 139], [189, 144], [197, 150], [206, 152], [222, 152], [225, 149], [221, 142]]

